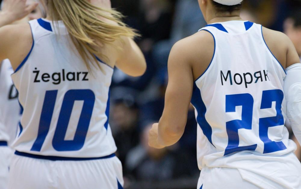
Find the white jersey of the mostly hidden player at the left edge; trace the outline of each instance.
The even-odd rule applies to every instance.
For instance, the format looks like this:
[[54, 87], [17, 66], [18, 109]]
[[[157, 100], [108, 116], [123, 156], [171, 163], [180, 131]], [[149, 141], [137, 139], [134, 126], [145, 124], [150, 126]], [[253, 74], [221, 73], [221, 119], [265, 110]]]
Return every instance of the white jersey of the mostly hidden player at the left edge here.
[[14, 73], [8, 59], [3, 60], [0, 68], [0, 141], [11, 144], [17, 134], [20, 121], [18, 92], [14, 88], [11, 74]]

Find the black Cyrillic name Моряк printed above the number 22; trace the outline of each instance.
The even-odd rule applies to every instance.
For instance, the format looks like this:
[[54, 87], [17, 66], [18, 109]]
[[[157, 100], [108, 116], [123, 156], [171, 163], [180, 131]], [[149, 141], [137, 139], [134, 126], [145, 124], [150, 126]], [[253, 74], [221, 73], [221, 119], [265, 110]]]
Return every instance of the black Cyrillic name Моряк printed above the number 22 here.
[[[270, 81], [270, 78], [268, 77], [268, 70], [261, 70], [255, 73], [235, 73], [232, 79], [232, 73], [231, 70], [228, 70], [227, 72], [223, 72], [221, 70], [221, 81], [222, 85], [224, 85], [225, 82], [230, 82], [230, 85], [233, 85], [233, 83], [237, 85], [244, 84], [246, 88], [248, 88], [248, 85], [251, 83], [257, 83], [258, 81], [263, 82]], [[234, 82], [233, 82], [234, 81]]]

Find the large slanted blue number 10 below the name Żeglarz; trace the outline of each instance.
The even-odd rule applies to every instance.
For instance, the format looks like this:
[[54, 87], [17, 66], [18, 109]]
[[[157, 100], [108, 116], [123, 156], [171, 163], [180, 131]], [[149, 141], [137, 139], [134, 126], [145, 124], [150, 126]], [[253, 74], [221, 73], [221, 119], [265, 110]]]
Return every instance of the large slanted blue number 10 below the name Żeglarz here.
[[[32, 151], [40, 151], [42, 148], [50, 128], [56, 98], [57, 90], [46, 91], [40, 117], [38, 136], [33, 144], [33, 147], [31, 148]], [[65, 140], [64, 138], [75, 101], [84, 101], [82, 111], [79, 117], [74, 139]], [[52, 146], [55, 150], [75, 151], [80, 150], [83, 147], [92, 116], [94, 102], [95, 95], [91, 90], [69, 90], [66, 92], [52, 139]]]

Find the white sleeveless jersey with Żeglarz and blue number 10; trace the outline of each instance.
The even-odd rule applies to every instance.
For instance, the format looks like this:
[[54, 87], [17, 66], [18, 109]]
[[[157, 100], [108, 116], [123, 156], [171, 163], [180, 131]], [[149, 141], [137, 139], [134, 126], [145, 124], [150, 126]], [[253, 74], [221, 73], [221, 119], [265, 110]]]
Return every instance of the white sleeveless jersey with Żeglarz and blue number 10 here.
[[113, 68], [88, 70], [62, 21], [29, 22], [33, 47], [12, 75], [23, 107], [13, 147], [43, 156], [97, 158], [116, 151], [108, 124]]

